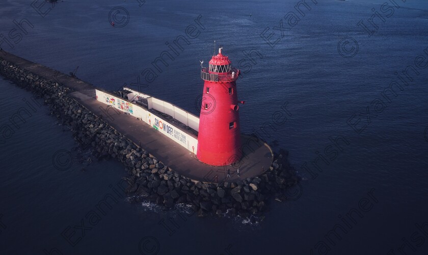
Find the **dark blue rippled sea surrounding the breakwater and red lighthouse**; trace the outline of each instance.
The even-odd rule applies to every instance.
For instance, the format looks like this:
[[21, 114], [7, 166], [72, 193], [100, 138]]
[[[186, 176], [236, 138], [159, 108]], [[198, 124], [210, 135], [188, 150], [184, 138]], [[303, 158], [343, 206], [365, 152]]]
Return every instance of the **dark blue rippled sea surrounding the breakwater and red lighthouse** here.
[[[0, 80], [1, 135], [7, 137], [0, 144], [1, 253], [427, 254], [428, 223], [422, 230], [415, 223], [428, 222], [428, 68], [416, 68], [418, 75], [410, 71], [413, 82], [402, 70], [415, 66], [419, 55], [428, 58], [428, 3], [395, 0], [396, 8], [388, 1], [391, 14], [386, 7], [381, 12], [386, 0], [306, 1], [310, 10], [301, 6], [302, 16], [294, 8], [297, 2], [147, 0], [139, 7], [137, 0], [79, 0], [53, 9], [46, 4], [39, 10], [44, 17], [29, 1], [2, 3], [3, 35], [16, 29], [13, 20], [25, 18], [33, 27], [24, 24], [26, 34], [9, 39], [13, 48], [4, 42], [5, 50], [65, 73], [79, 66], [77, 77], [109, 90], [137, 83], [140, 75], [148, 85], [144, 92], [195, 114], [203, 88], [199, 60], [207, 65], [216, 40], [245, 71], [237, 84], [239, 99], [246, 100], [240, 108], [243, 132], [262, 132], [286, 104], [292, 115], [282, 112], [286, 121], [265, 125], [265, 139], [275, 149], [289, 150], [303, 181], [297, 200], [272, 201], [271, 212], [256, 225], [241, 218], [189, 217], [185, 208], [163, 212], [150, 204], [132, 205], [112, 189], [125, 174], [121, 164], [91, 162], [90, 150], [76, 149], [71, 132], [31, 101], [31, 93]], [[129, 18], [121, 22], [117, 14], [113, 27], [109, 12], [115, 7], [125, 8]], [[374, 33], [368, 37], [357, 23], [363, 20], [369, 27], [372, 8], [385, 22], [375, 17], [378, 29], [371, 26]], [[300, 19], [293, 27], [289, 16], [284, 18], [289, 12]], [[205, 29], [194, 21], [198, 15]], [[280, 20], [283, 37], [273, 29]], [[141, 72], [154, 69], [151, 63], [169, 50], [165, 42], [185, 36], [189, 25], [200, 30], [199, 36], [186, 37], [190, 44], [182, 43], [179, 56], [172, 55], [168, 67], [159, 64], [162, 72], [155, 70], [157, 78], [146, 82]], [[270, 41], [280, 39], [273, 47], [260, 36], [267, 27], [264, 36], [274, 32]], [[346, 37], [358, 43], [351, 58], [338, 52], [338, 42]], [[352, 46], [355, 50], [350, 41], [341, 53], [352, 56]], [[243, 50], [257, 50], [262, 58], [253, 51], [255, 62], [250, 62]], [[395, 72], [408, 85], [394, 87], [396, 96], [388, 94], [389, 102], [381, 92], [399, 82]], [[384, 108], [371, 105], [376, 98]], [[31, 116], [6, 134], [4, 126], [22, 107]], [[359, 134], [347, 123], [358, 119]], [[329, 140], [338, 136], [347, 141], [339, 141], [343, 150]], [[322, 172], [311, 164], [319, 155], [329, 163], [317, 160]], [[305, 163], [311, 172], [301, 169]], [[108, 194], [117, 203], [103, 208], [103, 214], [96, 205]], [[91, 227], [84, 233], [81, 220]], [[62, 236], [73, 231], [74, 246]]]

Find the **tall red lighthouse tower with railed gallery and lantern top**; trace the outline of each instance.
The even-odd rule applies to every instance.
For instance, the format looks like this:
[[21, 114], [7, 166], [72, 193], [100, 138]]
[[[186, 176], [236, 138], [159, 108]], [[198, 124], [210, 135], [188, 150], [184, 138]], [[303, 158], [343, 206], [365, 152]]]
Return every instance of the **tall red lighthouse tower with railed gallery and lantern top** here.
[[[236, 80], [239, 70], [219, 54], [202, 67], [204, 80], [196, 157], [213, 166], [230, 165], [242, 156]], [[244, 101], [239, 103], [244, 104]]]

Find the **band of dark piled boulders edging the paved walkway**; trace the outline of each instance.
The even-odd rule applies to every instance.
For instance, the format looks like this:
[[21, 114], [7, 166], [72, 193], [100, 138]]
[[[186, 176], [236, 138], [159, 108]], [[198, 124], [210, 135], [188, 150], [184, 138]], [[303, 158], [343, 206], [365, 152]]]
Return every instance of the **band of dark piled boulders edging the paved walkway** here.
[[273, 196], [276, 200], [300, 196], [299, 191], [288, 192], [289, 187], [298, 184], [298, 177], [287, 161], [287, 151], [280, 150], [270, 169], [257, 177], [218, 184], [191, 180], [169, 169], [79, 104], [69, 95], [69, 88], [1, 59], [0, 74], [42, 98], [51, 114], [70, 127], [74, 139], [92, 148], [94, 157], [122, 162], [128, 172], [123, 177], [128, 183], [126, 192], [133, 202], [148, 200], [166, 208], [184, 203], [198, 216], [229, 212], [248, 217], [268, 210], [268, 200]]

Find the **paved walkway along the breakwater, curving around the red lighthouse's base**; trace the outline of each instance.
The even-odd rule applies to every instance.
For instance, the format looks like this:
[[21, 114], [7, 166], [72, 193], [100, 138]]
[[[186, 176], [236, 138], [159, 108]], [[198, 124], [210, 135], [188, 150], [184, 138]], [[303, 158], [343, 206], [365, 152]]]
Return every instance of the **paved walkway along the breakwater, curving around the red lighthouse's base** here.
[[[113, 109], [108, 111], [112, 116], [112, 118], [109, 118], [105, 114], [105, 109], [108, 105], [95, 100], [95, 86], [92, 84], [76, 78], [71, 78], [64, 73], [12, 54], [6, 53], [6, 55], [3, 55], [3, 53], [0, 52], [0, 57], [32, 73], [56, 80], [62, 85], [73, 89], [74, 92], [69, 93], [69, 95], [75, 98], [84, 107], [96, 115], [102, 115], [103, 119], [108, 120], [114, 129], [135, 144], [141, 144], [142, 148], [149, 151], [151, 155], [174, 171], [188, 176], [191, 179], [204, 182], [215, 182], [217, 175], [217, 181], [219, 182], [222, 180], [243, 180], [247, 177], [254, 177], [261, 174], [262, 169], [269, 169], [272, 163], [272, 152], [267, 145], [264, 145], [263, 142], [256, 140], [254, 137], [242, 135], [243, 146], [247, 144], [247, 146], [245, 146], [247, 157], [244, 157], [239, 164], [237, 164], [240, 166], [240, 177], [237, 176], [236, 169], [232, 166], [215, 167], [205, 165], [198, 161], [192, 152], [159, 133], [144, 121], [138, 120], [131, 115], [124, 114], [123, 112], [117, 113]], [[229, 178], [227, 177], [227, 169], [230, 169], [231, 173]]]

